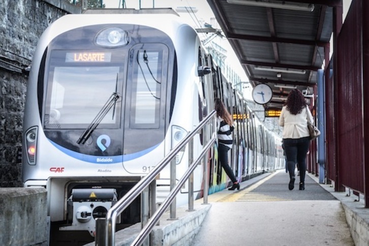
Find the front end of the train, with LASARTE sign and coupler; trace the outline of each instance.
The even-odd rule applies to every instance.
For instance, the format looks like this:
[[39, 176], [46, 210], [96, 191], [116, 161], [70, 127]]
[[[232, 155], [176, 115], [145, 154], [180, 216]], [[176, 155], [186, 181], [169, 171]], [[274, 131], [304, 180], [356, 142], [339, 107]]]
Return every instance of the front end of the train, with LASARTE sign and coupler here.
[[[150, 18], [117, 16], [55, 21], [29, 75], [23, 181], [46, 187], [48, 214], [60, 230], [93, 235], [94, 219], [105, 217], [164, 157], [174, 104], [173, 43], [146, 25]], [[121, 224], [140, 221], [139, 199], [128, 210]]]

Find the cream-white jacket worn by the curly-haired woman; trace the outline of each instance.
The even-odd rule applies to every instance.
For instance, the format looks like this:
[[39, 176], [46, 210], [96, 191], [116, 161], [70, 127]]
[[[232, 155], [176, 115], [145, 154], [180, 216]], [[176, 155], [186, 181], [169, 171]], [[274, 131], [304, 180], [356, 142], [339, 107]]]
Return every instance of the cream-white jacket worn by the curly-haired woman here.
[[283, 139], [297, 139], [310, 136], [306, 114], [308, 115], [310, 122], [314, 124], [313, 115], [307, 106], [302, 109], [301, 113], [296, 115], [291, 114], [290, 111], [288, 111], [287, 106], [283, 106], [281, 116], [279, 118], [279, 124], [283, 127]]

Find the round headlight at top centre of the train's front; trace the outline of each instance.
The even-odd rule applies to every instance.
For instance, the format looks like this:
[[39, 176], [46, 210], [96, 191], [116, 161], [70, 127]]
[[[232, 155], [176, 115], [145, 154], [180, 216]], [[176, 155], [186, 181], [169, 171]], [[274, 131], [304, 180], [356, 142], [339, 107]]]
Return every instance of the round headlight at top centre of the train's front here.
[[102, 30], [95, 39], [95, 43], [103, 47], [121, 47], [130, 43], [129, 33], [119, 27], [109, 27]]

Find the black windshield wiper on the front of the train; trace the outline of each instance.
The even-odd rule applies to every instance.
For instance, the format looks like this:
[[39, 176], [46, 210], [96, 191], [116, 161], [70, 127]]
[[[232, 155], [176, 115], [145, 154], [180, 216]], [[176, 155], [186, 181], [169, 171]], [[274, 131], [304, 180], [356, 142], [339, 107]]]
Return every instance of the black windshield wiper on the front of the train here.
[[114, 112], [115, 112], [115, 105], [116, 101], [120, 98], [119, 94], [117, 93], [117, 84], [118, 84], [118, 75], [116, 76], [116, 85], [115, 85], [115, 91], [111, 94], [108, 101], [104, 104], [104, 106], [101, 108], [99, 113], [95, 116], [93, 121], [89, 124], [89, 126], [86, 128], [86, 130], [82, 133], [82, 135], [77, 140], [78, 144], [84, 144], [89, 136], [93, 133], [93, 131], [99, 126], [101, 120], [105, 117], [105, 115], [109, 112], [109, 110], [113, 107], [113, 118], [114, 118]]

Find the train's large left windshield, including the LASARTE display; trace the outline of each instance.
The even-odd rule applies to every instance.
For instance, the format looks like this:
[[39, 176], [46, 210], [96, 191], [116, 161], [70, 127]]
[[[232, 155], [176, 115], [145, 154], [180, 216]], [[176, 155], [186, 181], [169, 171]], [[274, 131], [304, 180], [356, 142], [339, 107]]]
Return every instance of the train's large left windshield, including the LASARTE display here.
[[[100, 56], [99, 56], [100, 55]], [[51, 53], [44, 126], [46, 129], [86, 128], [100, 114], [99, 127], [118, 128], [120, 101], [106, 108], [120, 92], [121, 66], [110, 53]], [[119, 76], [120, 75], [120, 76]], [[101, 110], [106, 110], [104, 115]]]

